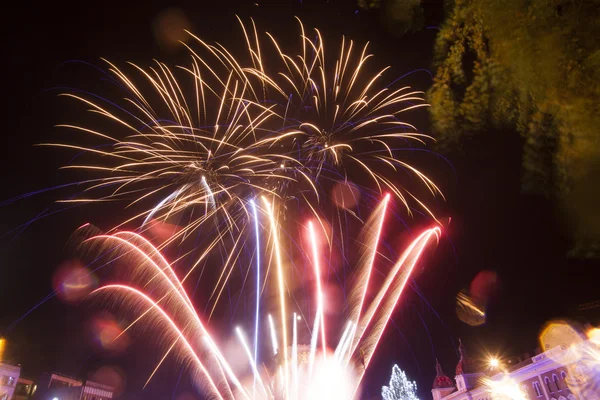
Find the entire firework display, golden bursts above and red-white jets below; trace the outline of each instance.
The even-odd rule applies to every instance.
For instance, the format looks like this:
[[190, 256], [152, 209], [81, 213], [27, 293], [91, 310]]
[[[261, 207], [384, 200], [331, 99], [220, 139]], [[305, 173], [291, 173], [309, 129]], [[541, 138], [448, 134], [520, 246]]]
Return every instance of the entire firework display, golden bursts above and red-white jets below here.
[[[107, 62], [111, 82], [123, 93], [118, 102], [86, 92], [64, 95], [82, 103], [103, 127], [61, 125], [88, 137], [85, 146], [52, 144], [80, 152], [64, 168], [87, 174], [81, 182], [84, 190], [65, 202], [126, 204], [125, 220], [86, 243], [136, 266], [124, 276], [125, 283], [93, 293], [120, 296], [137, 313], [124, 332], [141, 324], [160, 332], [165, 351], [149, 380], [168, 357], [176, 356], [191, 367], [203, 390], [218, 398], [327, 398], [331, 385], [320, 381], [323, 377], [347, 383], [344, 397], [351, 398], [414, 265], [439, 234], [439, 228], [432, 228], [418, 236], [374, 299], [367, 301], [367, 293], [374, 290], [370, 278], [390, 201], [399, 200], [409, 213], [416, 204], [433, 217], [424, 201], [397, 179], [400, 172], [408, 172], [433, 195], [439, 194], [399, 151], [429, 140], [400, 119], [427, 104], [422, 92], [384, 82], [387, 68], [369, 75], [366, 46], [357, 51], [352, 41], [342, 38], [339, 52], [330, 58], [319, 31], [312, 40], [301, 23], [300, 47], [291, 51], [269, 34], [263, 45], [254, 22], [252, 30], [241, 21], [240, 25], [247, 59], [194, 36], [198, 48], [188, 46], [188, 66], [130, 64], [133, 73], [128, 73]], [[321, 217], [327, 208], [322, 199], [329, 193], [335, 197], [335, 185], [340, 184], [349, 187], [352, 196], [366, 193], [372, 200], [381, 194], [384, 200], [359, 237], [362, 252], [353, 263], [348, 320], [336, 341], [328, 337], [335, 326], [325, 318], [328, 285], [322, 261], [327, 253], [317, 243], [317, 231], [324, 235], [329, 254], [334, 237], [342, 241], [343, 252], [343, 217], [352, 215], [363, 222], [351, 209], [358, 200], [346, 207], [338, 199], [344, 211], [336, 209], [333, 225]], [[304, 211], [313, 221], [282, 228], [286, 218]], [[157, 234], [167, 225], [173, 227], [171, 232]], [[135, 229], [126, 231], [126, 226]], [[297, 226], [309, 238], [310, 251], [302, 257], [310, 260], [315, 277], [314, 297], [312, 287], [303, 288], [316, 305], [314, 320], [304, 321], [307, 330], [312, 325], [307, 346], [298, 343], [304, 312], [290, 291], [292, 281], [286, 279], [297, 261], [287, 259], [284, 247], [294, 241]], [[158, 239], [156, 246], [145, 238], [150, 236]], [[179, 247], [177, 262], [186, 267], [181, 277], [163, 256], [172, 247]], [[210, 284], [203, 282], [210, 290], [201, 318], [184, 282], [199, 267], [202, 278], [209, 264], [217, 265], [212, 268], [216, 276]], [[235, 330], [252, 371], [250, 380], [239, 377], [206, 327], [236, 266], [245, 276], [240, 293], [247, 281], [256, 286], [252, 340], [241, 327]], [[253, 269], [256, 280], [247, 279]], [[261, 294], [269, 290], [270, 281], [277, 312], [265, 318]], [[269, 329], [260, 328], [265, 320]], [[274, 367], [261, 363], [265, 332], [272, 356], [279, 360]], [[300, 367], [302, 360], [306, 368]], [[306, 390], [301, 393], [300, 388]]]

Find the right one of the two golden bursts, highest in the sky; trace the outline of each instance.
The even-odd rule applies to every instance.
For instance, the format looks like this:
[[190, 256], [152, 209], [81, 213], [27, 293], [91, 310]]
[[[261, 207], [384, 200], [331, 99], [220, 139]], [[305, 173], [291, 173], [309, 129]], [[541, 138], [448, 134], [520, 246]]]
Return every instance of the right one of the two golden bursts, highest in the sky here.
[[298, 182], [309, 178], [317, 201], [326, 192], [322, 184], [348, 179], [364, 182], [359, 178], [364, 175], [380, 193], [393, 193], [409, 213], [409, 204], [415, 202], [433, 217], [417, 196], [391, 178], [403, 170], [416, 176], [433, 195], [441, 195], [433, 181], [399, 157], [399, 147], [431, 140], [401, 119], [410, 110], [428, 106], [424, 93], [399, 86], [398, 80], [384, 81], [389, 67], [369, 75], [368, 44], [357, 48], [342, 37], [339, 51], [329, 55], [321, 33], [315, 29], [311, 39], [298, 22], [300, 46], [286, 51], [269, 33], [267, 45], [261, 44], [254, 21], [250, 30], [240, 20], [250, 67], [244, 67], [223, 46], [196, 39], [253, 87], [247, 93], [255, 96], [256, 103], [273, 106], [270, 109], [276, 117], [269, 124], [274, 131], [294, 132], [285, 144], [300, 163], [289, 165], [286, 172]]

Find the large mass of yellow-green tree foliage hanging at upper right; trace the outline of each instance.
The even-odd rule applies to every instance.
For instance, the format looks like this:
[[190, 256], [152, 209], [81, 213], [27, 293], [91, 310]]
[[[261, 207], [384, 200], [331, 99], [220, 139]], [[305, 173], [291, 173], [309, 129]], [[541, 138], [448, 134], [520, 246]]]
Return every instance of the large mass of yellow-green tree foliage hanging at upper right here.
[[557, 195], [577, 237], [598, 242], [600, 191], [584, 189], [600, 157], [600, 0], [454, 0], [435, 52], [441, 143], [517, 130], [523, 188]]

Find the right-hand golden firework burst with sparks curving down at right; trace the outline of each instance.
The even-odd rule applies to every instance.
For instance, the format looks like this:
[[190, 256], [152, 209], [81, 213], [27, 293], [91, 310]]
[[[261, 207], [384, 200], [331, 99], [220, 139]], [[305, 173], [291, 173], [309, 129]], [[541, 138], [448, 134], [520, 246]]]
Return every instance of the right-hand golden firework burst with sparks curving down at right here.
[[[222, 54], [221, 62], [238, 69], [237, 74], [246, 76], [250, 85], [255, 79], [258, 81], [256, 86], [272, 89], [266, 91], [267, 99], [269, 102], [280, 104], [281, 110], [277, 115], [282, 119], [281, 126], [293, 127], [299, 131], [295, 141], [299, 143], [302, 150], [300, 158], [305, 160], [303, 164], [309, 170], [314, 167], [314, 173], [311, 172], [310, 175], [316, 180], [324, 171], [324, 165], [329, 163], [348, 175], [348, 169], [342, 163], [342, 159], [345, 158], [350, 164], [354, 163], [366, 172], [380, 192], [384, 188], [389, 189], [404, 203], [408, 212], [410, 212], [408, 206], [408, 198], [410, 198], [435, 218], [420, 199], [410, 191], [396, 186], [385, 174], [373, 168], [375, 164], [380, 164], [394, 173], [398, 168], [405, 169], [422, 181], [433, 195], [442, 195], [435, 183], [427, 176], [399, 160], [392, 150], [394, 146], [390, 143], [395, 139], [419, 143], [431, 139], [427, 135], [417, 133], [413, 125], [397, 119], [401, 113], [428, 106], [423, 100], [423, 92], [409, 91], [409, 87], [394, 90], [389, 86], [395, 81], [378, 89], [380, 78], [389, 67], [382, 69], [374, 77], [364, 79], [364, 66], [372, 55], [366, 54], [367, 46], [365, 46], [357, 61], [354, 62], [353, 42], [350, 41], [349, 45], [346, 45], [343, 37], [337, 60], [335, 63], [327, 63], [320, 32], [315, 29], [317, 38], [313, 43], [305, 34], [302, 22], [299, 19], [298, 22], [301, 31], [301, 56], [288, 55], [276, 39], [267, 33], [280, 65], [284, 66], [277, 73], [267, 74], [263, 62], [259, 63], [258, 67], [254, 65], [254, 68], [240, 67], [230, 53]], [[254, 22], [252, 23], [254, 25]], [[256, 28], [254, 38], [251, 38], [241, 20], [240, 24], [244, 31], [248, 52], [254, 59], [260, 52]], [[312, 50], [312, 57], [307, 56], [307, 48]], [[266, 58], [265, 61], [269, 62], [270, 59]], [[352, 70], [353, 64], [354, 70]], [[329, 76], [329, 73], [332, 75]], [[362, 86], [363, 80], [366, 82], [364, 86]], [[252, 91], [252, 93], [257, 92], [258, 90]], [[257, 97], [256, 101], [260, 102], [261, 99]], [[406, 132], [406, 129], [415, 132]], [[358, 152], [357, 149], [365, 150]]]

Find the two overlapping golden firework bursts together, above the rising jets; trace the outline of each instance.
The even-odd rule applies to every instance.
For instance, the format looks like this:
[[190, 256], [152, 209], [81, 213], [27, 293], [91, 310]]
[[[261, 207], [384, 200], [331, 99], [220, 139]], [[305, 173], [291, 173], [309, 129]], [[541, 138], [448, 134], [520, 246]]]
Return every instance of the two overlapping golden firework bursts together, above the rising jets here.
[[80, 196], [64, 201], [127, 201], [138, 212], [124, 223], [138, 221], [146, 229], [153, 221], [176, 220], [183, 228], [164, 245], [215, 219], [229, 235], [244, 231], [252, 214], [248, 199], [265, 194], [300, 200], [316, 215], [312, 203], [338, 181], [374, 184], [409, 212], [412, 201], [433, 216], [394, 178], [408, 171], [439, 193], [425, 174], [398, 157], [398, 148], [429, 138], [399, 119], [427, 106], [422, 92], [384, 83], [387, 68], [367, 76], [366, 46], [357, 51], [342, 38], [339, 54], [329, 61], [317, 30], [312, 41], [300, 24], [295, 55], [284, 53], [268, 34], [270, 43], [261, 46], [254, 24], [253, 35], [240, 24], [250, 62], [194, 36], [207, 54], [188, 47], [189, 66], [131, 64], [135, 73], [128, 74], [107, 62], [111, 81], [124, 92], [121, 102], [64, 94], [105, 126], [61, 125], [94, 140], [87, 146], [52, 144], [85, 153], [64, 168], [98, 174], [82, 182]]

